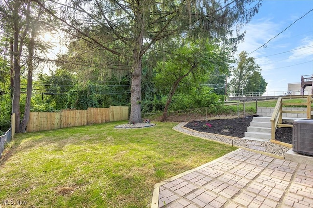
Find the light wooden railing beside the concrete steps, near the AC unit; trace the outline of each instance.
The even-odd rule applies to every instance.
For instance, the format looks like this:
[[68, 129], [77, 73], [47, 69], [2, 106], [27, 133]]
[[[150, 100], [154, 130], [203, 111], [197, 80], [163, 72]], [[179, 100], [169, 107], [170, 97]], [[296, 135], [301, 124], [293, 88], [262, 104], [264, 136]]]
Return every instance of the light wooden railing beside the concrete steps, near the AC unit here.
[[[279, 127], [292, 127], [292, 124], [283, 124], [283, 113], [298, 113], [298, 114], [306, 114], [307, 119], [311, 119], [311, 111], [313, 108], [311, 107], [313, 95], [308, 96], [292, 96], [292, 97], [279, 97], [274, 108], [274, 112], [270, 119], [271, 121], [271, 140], [275, 140], [275, 132], [276, 128]], [[294, 98], [307, 98], [306, 102], [303, 103], [290, 103], [284, 102], [284, 99], [294, 99]], [[306, 109], [299, 111], [291, 111], [291, 110], [283, 110], [283, 106], [306, 106]]]

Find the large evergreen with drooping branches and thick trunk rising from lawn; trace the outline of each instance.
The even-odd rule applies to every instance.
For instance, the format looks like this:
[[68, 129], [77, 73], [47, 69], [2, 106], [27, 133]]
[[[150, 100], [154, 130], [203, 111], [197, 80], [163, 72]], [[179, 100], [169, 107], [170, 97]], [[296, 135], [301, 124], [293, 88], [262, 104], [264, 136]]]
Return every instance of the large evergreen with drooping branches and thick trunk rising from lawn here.
[[[64, 23], [67, 34], [112, 53], [103, 63], [129, 66], [130, 120], [135, 123], [142, 122], [142, 57], [152, 46], [181, 36], [218, 38], [235, 46], [243, 38], [239, 28], [260, 6], [260, 2], [254, 1], [71, 0], [56, 2], [53, 9], [45, 7], [42, 1], [36, 2]], [[57, 4], [65, 9], [60, 11]], [[54, 11], [56, 8], [59, 13]], [[233, 26], [237, 26], [237, 34], [228, 39], [227, 36], [234, 35]]]

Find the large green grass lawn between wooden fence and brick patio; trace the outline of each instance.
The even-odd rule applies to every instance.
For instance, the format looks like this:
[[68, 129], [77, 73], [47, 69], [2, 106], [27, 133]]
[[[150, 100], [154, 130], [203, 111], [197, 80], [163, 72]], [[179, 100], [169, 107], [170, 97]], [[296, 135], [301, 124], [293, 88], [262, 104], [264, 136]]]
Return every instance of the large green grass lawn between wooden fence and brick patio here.
[[177, 123], [114, 129], [123, 123], [17, 134], [1, 160], [1, 201], [144, 208], [155, 183], [236, 149], [176, 132]]

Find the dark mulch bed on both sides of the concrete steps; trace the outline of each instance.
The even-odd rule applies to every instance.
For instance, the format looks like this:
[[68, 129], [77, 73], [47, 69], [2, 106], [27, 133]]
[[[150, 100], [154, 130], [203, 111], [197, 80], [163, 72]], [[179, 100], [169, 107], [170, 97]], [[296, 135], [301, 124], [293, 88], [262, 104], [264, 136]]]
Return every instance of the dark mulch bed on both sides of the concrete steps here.
[[[233, 136], [238, 138], [245, 137], [248, 126], [253, 119], [253, 116], [234, 119], [218, 119], [206, 121], [191, 121], [185, 125], [189, 129], [199, 132], [215, 133], [225, 136]], [[275, 140], [292, 144], [292, 128], [277, 128]]]

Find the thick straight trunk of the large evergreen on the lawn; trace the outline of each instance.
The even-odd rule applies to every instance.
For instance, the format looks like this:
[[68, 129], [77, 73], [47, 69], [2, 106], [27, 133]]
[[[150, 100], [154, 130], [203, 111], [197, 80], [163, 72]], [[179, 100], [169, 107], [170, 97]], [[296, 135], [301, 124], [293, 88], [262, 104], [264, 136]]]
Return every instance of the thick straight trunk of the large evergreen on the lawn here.
[[[144, 3], [144, 1], [139, 1]], [[138, 4], [139, 4], [138, 3]], [[141, 5], [142, 6], [142, 5]], [[140, 6], [138, 5], [138, 8]], [[145, 20], [142, 11], [138, 9], [135, 14], [136, 26], [134, 35], [134, 49], [133, 49], [133, 66], [132, 66], [132, 80], [131, 80], [131, 115], [129, 121], [132, 123], [142, 123], [141, 119], [141, 72], [142, 72], [142, 44]]]

